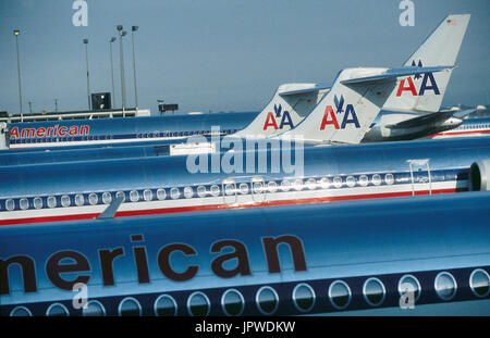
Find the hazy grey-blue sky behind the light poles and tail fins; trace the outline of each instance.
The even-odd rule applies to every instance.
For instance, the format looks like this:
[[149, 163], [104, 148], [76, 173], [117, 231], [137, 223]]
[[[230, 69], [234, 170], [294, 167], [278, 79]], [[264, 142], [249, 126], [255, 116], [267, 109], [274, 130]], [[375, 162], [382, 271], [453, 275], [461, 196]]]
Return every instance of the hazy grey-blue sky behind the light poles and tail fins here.
[[[189, 111], [260, 110], [283, 83], [330, 84], [351, 66], [401, 66], [448, 14], [471, 14], [443, 105], [489, 103], [490, 1], [414, 0], [415, 26], [399, 24], [399, 0], [86, 0], [75, 27], [73, 0], [0, 1], [0, 110], [19, 112], [20, 29], [23, 109], [87, 109], [90, 91], [111, 91], [109, 40], [123, 38], [127, 105], [134, 105], [131, 26], [140, 108], [157, 99]], [[121, 107], [119, 41], [113, 45]]]

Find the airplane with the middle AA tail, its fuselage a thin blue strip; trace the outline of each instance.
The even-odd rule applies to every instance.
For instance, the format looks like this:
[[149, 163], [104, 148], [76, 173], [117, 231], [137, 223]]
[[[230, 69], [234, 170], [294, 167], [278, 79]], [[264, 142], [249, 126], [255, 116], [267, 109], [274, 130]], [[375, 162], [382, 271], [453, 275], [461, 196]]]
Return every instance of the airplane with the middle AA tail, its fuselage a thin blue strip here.
[[[294, 139], [307, 145], [358, 143], [370, 123], [376, 118], [383, 103], [395, 95], [394, 87], [405, 80], [407, 75], [424, 72], [443, 72], [449, 66], [438, 67], [405, 67], [405, 68], [372, 68], [357, 67], [339, 72], [335, 82], [328, 93], [322, 96], [313, 111], [294, 128], [277, 135], [269, 133], [269, 138]], [[277, 96], [277, 95], [275, 95]], [[285, 97], [294, 96], [291, 92]], [[277, 105], [275, 105], [277, 107]], [[335, 107], [335, 109], [333, 109]], [[266, 110], [264, 110], [266, 111]], [[264, 113], [262, 111], [262, 113]], [[260, 118], [260, 113], [253, 122]], [[283, 112], [284, 114], [287, 112]], [[283, 115], [284, 116], [284, 115]], [[146, 117], [148, 118], [148, 117]], [[134, 118], [133, 118], [134, 120]], [[127, 125], [126, 122], [124, 122]], [[107, 125], [108, 127], [109, 125]], [[248, 128], [248, 127], [247, 127]], [[246, 128], [246, 129], [247, 129]], [[32, 128], [35, 129], [34, 127]], [[24, 129], [25, 130], [25, 129]], [[154, 142], [144, 146], [126, 146], [112, 148], [78, 148], [65, 150], [45, 149], [42, 151], [16, 152], [1, 151], [0, 165], [26, 165], [39, 163], [57, 163], [71, 161], [109, 160], [115, 158], [155, 157], [187, 153], [188, 151], [213, 151], [216, 141], [245, 143], [246, 139], [237, 138], [235, 134], [221, 136], [219, 128], [211, 127], [206, 132], [211, 135], [187, 138], [186, 143], [172, 140], [167, 143]], [[35, 133], [33, 132], [33, 135]], [[307, 138], [305, 139], [305, 136]], [[255, 137], [259, 136], [256, 134]], [[107, 140], [110, 142], [110, 140]], [[125, 143], [127, 145], [127, 143]], [[138, 143], [139, 145], [139, 143]]]

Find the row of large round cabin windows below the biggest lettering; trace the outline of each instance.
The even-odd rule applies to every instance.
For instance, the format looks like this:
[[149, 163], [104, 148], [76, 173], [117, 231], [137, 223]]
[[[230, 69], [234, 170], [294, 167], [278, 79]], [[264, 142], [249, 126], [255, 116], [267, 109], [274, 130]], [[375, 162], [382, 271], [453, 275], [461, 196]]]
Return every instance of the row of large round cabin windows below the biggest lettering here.
[[[476, 268], [471, 272], [469, 277], [469, 286], [473, 293], [478, 298], [485, 298], [490, 293], [490, 276], [482, 268]], [[420, 283], [414, 275], [404, 275], [399, 280], [400, 296], [413, 292], [414, 302], [420, 298], [421, 287]], [[449, 272], [441, 272], [434, 278], [434, 290], [439, 298], [443, 301], [449, 301], [454, 298], [457, 291], [457, 283], [454, 276]], [[387, 290], [383, 283], [376, 277], [366, 279], [363, 286], [363, 297], [370, 306], [379, 306], [383, 303], [387, 296]], [[338, 279], [334, 280], [328, 289], [328, 298], [332, 306], [336, 310], [345, 310], [351, 303], [352, 292], [347, 283]], [[294, 306], [301, 313], [311, 311], [317, 301], [317, 296], [314, 288], [301, 283], [293, 289], [292, 299]], [[279, 308], [279, 296], [274, 288], [264, 286], [256, 292], [255, 303], [257, 310], [265, 315], [274, 314]], [[236, 289], [228, 289], [221, 296], [221, 309], [225, 315], [241, 315], [245, 310], [245, 299], [243, 295]], [[210, 313], [211, 303], [208, 296], [201, 291], [191, 293], [186, 301], [186, 310], [192, 316], [206, 316]], [[176, 315], [177, 303], [170, 295], [159, 296], [154, 303], [154, 313], [157, 316]], [[142, 305], [138, 300], [133, 297], [124, 298], [118, 306], [118, 314], [126, 315], [142, 315]], [[16, 306], [11, 313], [11, 316], [32, 315], [26, 306]], [[70, 315], [69, 310], [61, 303], [51, 304], [46, 311], [46, 315]], [[98, 300], [90, 300], [83, 309], [83, 315], [106, 315], [106, 309]]]

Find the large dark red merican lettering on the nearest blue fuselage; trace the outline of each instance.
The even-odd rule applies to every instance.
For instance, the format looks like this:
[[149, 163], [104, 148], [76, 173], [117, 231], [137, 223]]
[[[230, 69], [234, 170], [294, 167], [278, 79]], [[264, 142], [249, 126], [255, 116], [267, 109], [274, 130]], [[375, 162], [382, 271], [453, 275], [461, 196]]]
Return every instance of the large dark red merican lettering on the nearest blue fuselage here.
[[[279, 246], [286, 246], [290, 248], [291, 259], [294, 265], [294, 272], [307, 271], [305, 249], [303, 247], [303, 240], [294, 235], [281, 235], [277, 237], [261, 237], [259, 238], [262, 248], [264, 255], [269, 274], [280, 274], [282, 266], [280, 263]], [[138, 284], [149, 284], [150, 268], [155, 268], [154, 264], [148, 264], [148, 254], [146, 247], [142, 243], [144, 241], [143, 234], [131, 235], [131, 242], [133, 242], [134, 262], [132, 273], [137, 277]], [[230, 252], [229, 250], [233, 251]], [[233, 278], [237, 276], [252, 276], [250, 259], [248, 255], [248, 248], [242, 241], [228, 238], [220, 239], [210, 245], [209, 251], [198, 252], [194, 246], [184, 242], [171, 242], [162, 246], [155, 259], [162, 276], [169, 280], [182, 283], [187, 281], [199, 273], [209, 274], [210, 272], [220, 278]], [[57, 288], [61, 290], [73, 291], [74, 289], [84, 289], [84, 285], [88, 285], [89, 279], [94, 274], [99, 272], [98, 268], [93, 266], [100, 266], [100, 275], [94, 276], [99, 284], [100, 279], [103, 287], [112, 287], [115, 285], [118, 271], [113, 268], [114, 260], [127, 260], [131, 249], [124, 245], [117, 248], [99, 248], [97, 249], [98, 255], [96, 255], [96, 262], [93, 255], [86, 255], [76, 250], [61, 250], [53, 252], [46, 262], [42, 262], [42, 266], [46, 266], [42, 273], [46, 276], [42, 280], [47, 279]], [[182, 254], [188, 261], [181, 261], [176, 263], [172, 253], [177, 252]], [[207, 267], [196, 265], [192, 263], [193, 258], [197, 258], [199, 254], [208, 254], [209, 252], [217, 255], [209, 261]], [[281, 254], [282, 258], [282, 254]], [[185, 260], [184, 259], [184, 260]], [[69, 261], [70, 263], [66, 263]], [[234, 261], [236, 267], [230, 270], [226, 262]], [[179, 262], [179, 261], [177, 261]], [[10, 278], [9, 266], [12, 264], [19, 264], [22, 267], [22, 276], [24, 281], [24, 293], [38, 291], [38, 272], [36, 266], [38, 262], [32, 255], [16, 254], [10, 258], [0, 259], [0, 295], [10, 295]], [[182, 268], [185, 268], [182, 271]], [[130, 270], [128, 270], [130, 271]], [[76, 273], [75, 278], [69, 278], [65, 273]], [[120, 274], [121, 272], [119, 272]], [[124, 273], [126, 274], [126, 273]], [[19, 280], [19, 279], [17, 279]], [[161, 279], [156, 281], [161, 283]], [[19, 286], [14, 288], [15, 292], [19, 292]], [[82, 290], [84, 291], [84, 290]], [[86, 290], [84, 291], [86, 292]], [[82, 297], [83, 298], [83, 297]]]

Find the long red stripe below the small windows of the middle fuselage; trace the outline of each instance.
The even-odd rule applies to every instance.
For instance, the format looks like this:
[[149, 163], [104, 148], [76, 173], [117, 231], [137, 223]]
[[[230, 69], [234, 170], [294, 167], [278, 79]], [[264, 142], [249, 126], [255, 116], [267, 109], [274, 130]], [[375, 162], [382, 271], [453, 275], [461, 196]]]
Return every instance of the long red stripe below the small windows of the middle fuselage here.
[[[437, 193], [452, 193], [466, 191], [467, 188], [453, 188], [453, 189], [437, 189], [432, 190], [433, 195]], [[430, 195], [429, 190], [415, 191], [416, 196]], [[297, 200], [280, 200], [280, 201], [267, 201], [254, 204], [211, 204], [211, 205], [193, 205], [193, 206], [177, 206], [177, 208], [162, 208], [162, 209], [145, 209], [145, 210], [127, 210], [118, 211], [114, 217], [128, 217], [128, 216], [144, 216], [144, 215], [158, 215], [170, 214], [179, 212], [196, 212], [196, 211], [212, 211], [212, 210], [231, 210], [231, 209], [244, 209], [244, 208], [260, 208], [260, 206], [279, 206], [279, 205], [292, 205], [292, 204], [309, 204], [309, 203], [322, 203], [322, 202], [335, 202], [335, 201], [350, 201], [350, 200], [364, 200], [364, 199], [380, 199], [390, 197], [404, 197], [413, 196], [412, 191], [397, 191], [397, 192], [383, 192], [383, 193], [366, 193], [366, 195], [350, 195], [350, 196], [333, 196], [333, 197], [319, 197]], [[32, 218], [14, 218], [0, 221], [1, 225], [14, 225], [14, 224], [33, 224], [33, 223], [47, 223], [47, 222], [63, 222], [63, 221], [82, 221], [96, 218], [99, 213], [89, 214], [73, 214], [73, 215], [59, 215], [59, 216], [46, 216], [46, 217], [32, 217]]]

